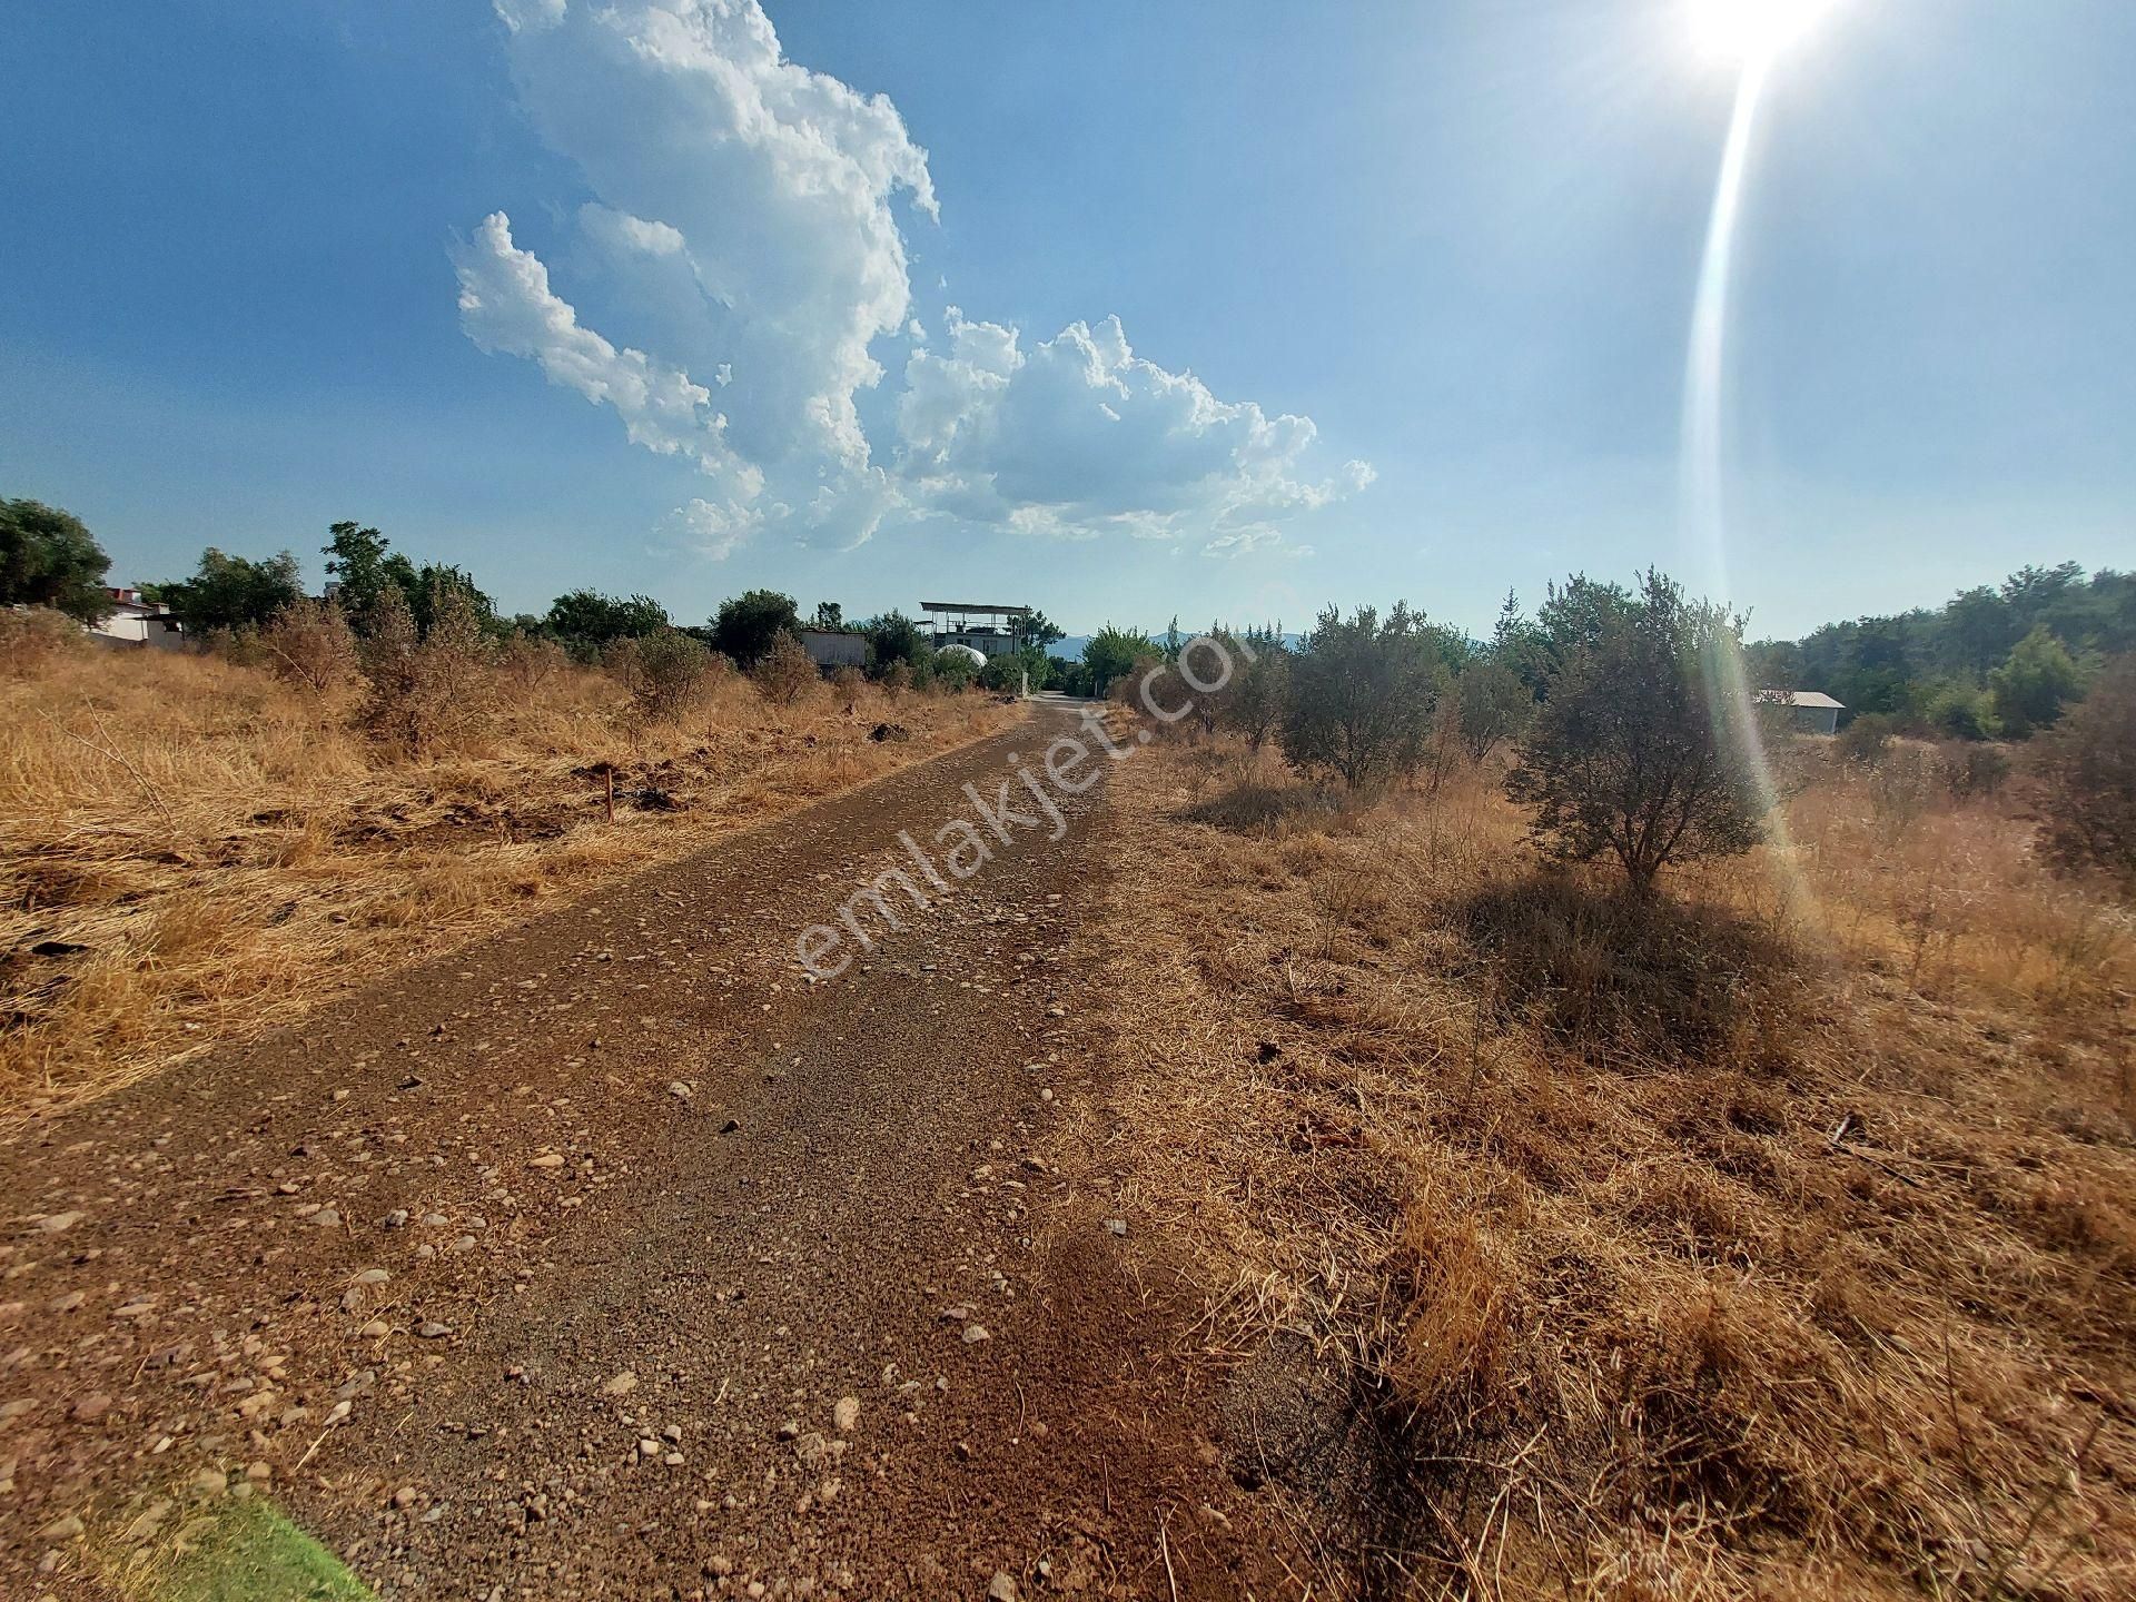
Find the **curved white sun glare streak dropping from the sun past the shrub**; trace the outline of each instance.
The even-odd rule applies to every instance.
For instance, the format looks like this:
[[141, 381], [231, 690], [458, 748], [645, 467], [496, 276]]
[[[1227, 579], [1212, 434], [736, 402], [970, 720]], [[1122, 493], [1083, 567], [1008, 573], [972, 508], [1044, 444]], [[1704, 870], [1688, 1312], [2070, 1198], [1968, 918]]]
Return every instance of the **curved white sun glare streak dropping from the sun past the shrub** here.
[[[1707, 222], [1707, 248], [1698, 265], [1698, 295], [1692, 301], [1692, 340], [1683, 370], [1681, 427], [1681, 506], [1685, 540], [1702, 555], [1707, 592], [1728, 596], [1728, 508], [1724, 487], [1724, 404], [1728, 355], [1728, 293], [1734, 282], [1737, 224], [1743, 214], [1743, 179], [1749, 171], [1752, 135], [1758, 126], [1758, 103], [1764, 96], [1766, 64], [1745, 60], [1737, 81], [1734, 111], [1728, 117], [1728, 143], [1722, 147], [1722, 171], [1713, 186], [1713, 214]], [[1781, 897], [1799, 918], [1813, 918], [1816, 897], [1794, 861], [1788, 820], [1777, 807], [1773, 763], [1758, 728], [1743, 654], [1726, 651], [1707, 664], [1707, 698], [1722, 726], [1741, 731], [1745, 763], [1758, 795], [1771, 812], [1771, 861]], [[1737, 716], [1719, 718], [1732, 709]]]

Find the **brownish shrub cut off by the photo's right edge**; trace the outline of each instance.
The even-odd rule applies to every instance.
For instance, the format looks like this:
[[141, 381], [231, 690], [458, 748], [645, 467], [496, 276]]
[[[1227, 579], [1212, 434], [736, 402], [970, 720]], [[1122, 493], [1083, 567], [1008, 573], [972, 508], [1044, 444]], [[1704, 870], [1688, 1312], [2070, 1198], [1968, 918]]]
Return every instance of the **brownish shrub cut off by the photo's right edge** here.
[[2040, 852], [2066, 871], [2098, 869], [2136, 891], [2136, 656], [2108, 664], [2040, 741]]

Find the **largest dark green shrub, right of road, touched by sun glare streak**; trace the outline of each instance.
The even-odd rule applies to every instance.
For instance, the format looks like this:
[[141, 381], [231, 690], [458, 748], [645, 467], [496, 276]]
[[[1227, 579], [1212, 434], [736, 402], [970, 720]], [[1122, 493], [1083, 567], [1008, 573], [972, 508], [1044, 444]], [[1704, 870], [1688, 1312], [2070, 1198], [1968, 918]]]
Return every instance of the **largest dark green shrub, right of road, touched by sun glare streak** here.
[[1766, 799], [1739, 758], [1752, 716], [1719, 692], [1741, 622], [1649, 572], [1551, 675], [1506, 792], [1564, 861], [1615, 857], [1636, 891], [1666, 863], [1749, 850]]

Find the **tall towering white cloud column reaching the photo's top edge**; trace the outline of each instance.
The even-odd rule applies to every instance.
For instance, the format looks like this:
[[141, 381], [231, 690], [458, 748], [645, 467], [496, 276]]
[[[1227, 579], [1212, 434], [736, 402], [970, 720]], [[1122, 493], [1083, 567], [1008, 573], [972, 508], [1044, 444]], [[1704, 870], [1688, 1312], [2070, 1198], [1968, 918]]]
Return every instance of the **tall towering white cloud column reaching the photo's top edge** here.
[[865, 461], [854, 391], [882, 376], [869, 342], [910, 312], [891, 201], [936, 209], [897, 107], [788, 62], [756, 0], [551, 11], [511, 30], [513, 79], [602, 214], [656, 218], [662, 254], [688, 256], [703, 305], [675, 357], [731, 363], [752, 455]]

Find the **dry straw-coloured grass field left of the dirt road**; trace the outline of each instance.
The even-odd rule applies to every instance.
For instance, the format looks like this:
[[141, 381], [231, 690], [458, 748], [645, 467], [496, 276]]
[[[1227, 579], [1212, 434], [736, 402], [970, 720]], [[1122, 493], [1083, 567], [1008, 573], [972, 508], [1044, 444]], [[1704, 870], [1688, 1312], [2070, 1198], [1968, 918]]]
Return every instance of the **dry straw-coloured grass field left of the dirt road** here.
[[[352, 688], [318, 696], [209, 656], [15, 658], [0, 677], [0, 1117], [288, 1021], [350, 974], [1019, 716], [865, 686], [771, 707], [728, 677], [645, 724], [596, 673], [547, 664], [500, 688], [500, 711], [412, 763], [352, 733]], [[912, 739], [869, 741], [886, 718]]]

